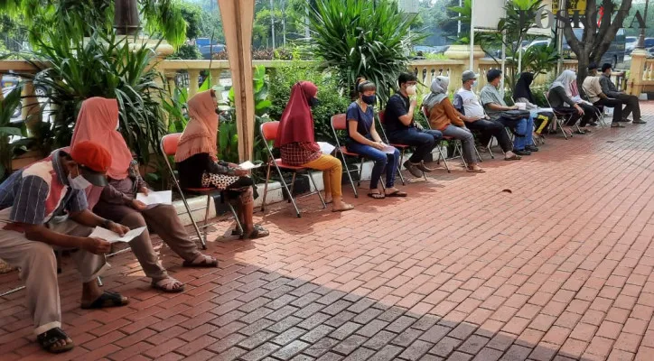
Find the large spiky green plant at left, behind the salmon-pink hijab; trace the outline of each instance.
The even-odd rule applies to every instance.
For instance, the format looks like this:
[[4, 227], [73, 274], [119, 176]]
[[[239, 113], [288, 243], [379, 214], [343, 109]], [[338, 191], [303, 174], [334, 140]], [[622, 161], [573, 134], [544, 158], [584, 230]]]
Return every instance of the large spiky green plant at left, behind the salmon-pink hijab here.
[[[42, 123], [35, 134], [42, 153], [70, 144], [79, 106], [89, 97], [116, 98], [121, 132], [130, 149], [149, 163], [159, 149], [165, 127], [159, 99], [161, 75], [152, 67], [154, 52], [134, 49], [126, 38], [95, 32], [89, 39], [51, 32], [51, 44], [41, 42], [33, 66], [41, 71], [33, 81], [50, 89], [52, 123]], [[42, 64], [47, 64], [44, 67]], [[29, 75], [23, 75], [29, 77]]]

